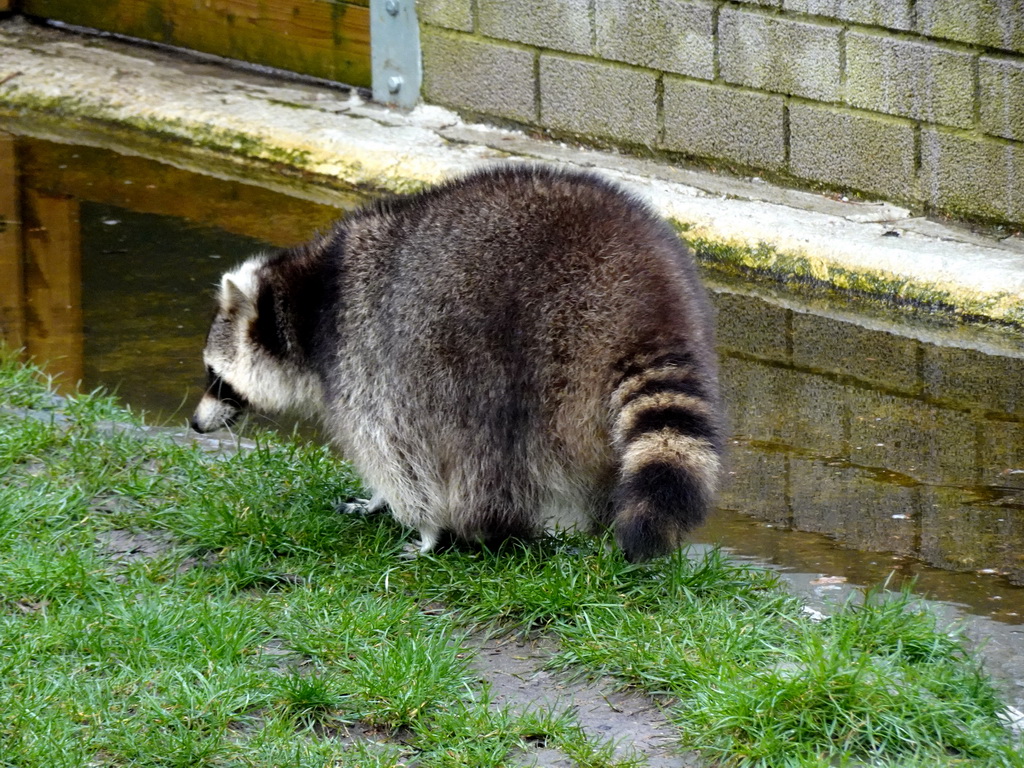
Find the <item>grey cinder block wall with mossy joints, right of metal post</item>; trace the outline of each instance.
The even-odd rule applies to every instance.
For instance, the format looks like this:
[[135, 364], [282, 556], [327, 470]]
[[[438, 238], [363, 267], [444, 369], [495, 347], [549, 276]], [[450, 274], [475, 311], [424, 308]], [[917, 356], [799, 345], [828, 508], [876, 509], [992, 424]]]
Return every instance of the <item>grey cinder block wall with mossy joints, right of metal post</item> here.
[[1024, 223], [1024, 0], [418, 0], [425, 100]]

